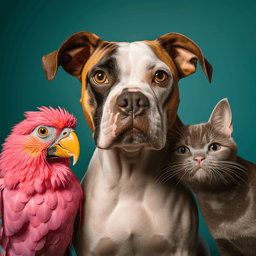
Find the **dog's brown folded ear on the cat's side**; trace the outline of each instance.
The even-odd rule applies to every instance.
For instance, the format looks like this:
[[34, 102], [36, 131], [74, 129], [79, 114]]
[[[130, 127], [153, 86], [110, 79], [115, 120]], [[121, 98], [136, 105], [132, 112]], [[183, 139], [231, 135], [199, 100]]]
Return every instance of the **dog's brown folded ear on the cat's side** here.
[[199, 60], [209, 83], [211, 82], [212, 66], [192, 40], [178, 33], [169, 33], [158, 37], [157, 41], [174, 60], [180, 78], [195, 73], [196, 62]]

